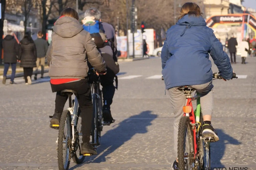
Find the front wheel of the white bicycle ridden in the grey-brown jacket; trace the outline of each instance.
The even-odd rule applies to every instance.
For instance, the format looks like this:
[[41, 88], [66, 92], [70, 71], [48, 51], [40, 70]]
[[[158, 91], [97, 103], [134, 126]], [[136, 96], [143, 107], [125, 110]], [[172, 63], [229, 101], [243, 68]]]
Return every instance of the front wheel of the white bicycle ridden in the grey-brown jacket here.
[[[79, 134], [82, 134], [82, 124], [81, 124], [81, 121], [82, 121], [82, 117], [80, 116], [80, 113], [81, 113], [81, 109], [80, 107], [78, 107], [77, 109], [77, 119], [76, 119], [76, 128], [75, 128], [75, 133], [77, 133], [77, 137], [76, 137], [76, 143], [75, 143], [75, 148], [76, 148], [76, 151], [75, 151], [75, 154], [74, 154], [74, 157], [73, 157], [73, 161], [74, 163], [76, 164], [81, 164], [83, 161], [84, 161], [84, 158], [85, 156], [81, 155], [81, 147], [82, 147], [82, 135], [79, 135]], [[77, 152], [79, 151], [79, 152]], [[77, 156], [79, 155], [79, 156]]]

